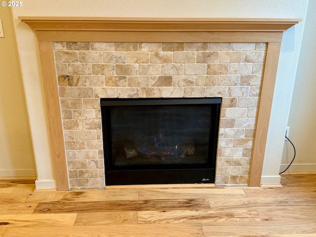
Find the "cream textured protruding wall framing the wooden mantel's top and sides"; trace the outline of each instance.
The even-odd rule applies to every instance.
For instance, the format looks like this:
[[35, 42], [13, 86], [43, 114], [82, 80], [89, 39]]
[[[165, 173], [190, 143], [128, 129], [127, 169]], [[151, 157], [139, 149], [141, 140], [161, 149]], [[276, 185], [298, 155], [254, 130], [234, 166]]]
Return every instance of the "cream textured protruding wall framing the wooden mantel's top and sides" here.
[[[254, 17], [305, 18], [308, 0], [24, 0], [13, 8], [26, 100], [34, 140], [38, 180], [54, 180], [47, 132], [38, 45], [18, 16]], [[263, 183], [278, 183], [304, 23], [284, 34], [263, 168]]]

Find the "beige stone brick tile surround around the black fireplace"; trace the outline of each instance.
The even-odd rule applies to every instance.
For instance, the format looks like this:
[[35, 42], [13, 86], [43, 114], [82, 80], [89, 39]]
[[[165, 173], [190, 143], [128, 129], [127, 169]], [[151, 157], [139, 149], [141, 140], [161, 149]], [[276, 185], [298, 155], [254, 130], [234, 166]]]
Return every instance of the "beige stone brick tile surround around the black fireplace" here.
[[246, 186], [266, 43], [54, 42], [71, 189], [102, 189], [99, 98], [223, 97], [217, 186]]

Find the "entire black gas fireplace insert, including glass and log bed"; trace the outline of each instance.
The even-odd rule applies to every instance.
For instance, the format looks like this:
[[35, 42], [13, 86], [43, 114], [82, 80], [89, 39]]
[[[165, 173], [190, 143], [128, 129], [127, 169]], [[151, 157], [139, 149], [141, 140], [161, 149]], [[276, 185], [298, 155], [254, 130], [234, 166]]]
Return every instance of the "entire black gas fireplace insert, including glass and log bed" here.
[[106, 185], [214, 183], [221, 103], [101, 99]]

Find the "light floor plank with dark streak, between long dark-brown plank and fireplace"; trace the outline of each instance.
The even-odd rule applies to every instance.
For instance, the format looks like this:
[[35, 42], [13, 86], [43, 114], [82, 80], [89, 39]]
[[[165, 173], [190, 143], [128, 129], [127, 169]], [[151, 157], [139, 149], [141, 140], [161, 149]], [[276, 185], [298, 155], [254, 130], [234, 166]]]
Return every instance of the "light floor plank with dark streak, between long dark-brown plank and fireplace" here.
[[58, 191], [34, 192], [27, 201], [54, 202], [54, 201], [111, 201], [111, 200], [137, 200], [138, 190], [84, 190], [84, 191]]

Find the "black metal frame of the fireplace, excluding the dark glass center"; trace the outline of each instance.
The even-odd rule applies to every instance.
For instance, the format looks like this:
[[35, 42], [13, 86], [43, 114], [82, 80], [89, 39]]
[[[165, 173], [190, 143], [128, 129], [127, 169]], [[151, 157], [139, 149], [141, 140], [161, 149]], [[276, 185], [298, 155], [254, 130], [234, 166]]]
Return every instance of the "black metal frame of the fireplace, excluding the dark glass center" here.
[[[222, 98], [101, 98], [101, 120], [106, 185], [214, 183]], [[147, 165], [146, 169], [125, 169], [111, 163], [111, 113], [113, 106], [207, 105], [211, 108], [209, 151], [203, 165]]]

